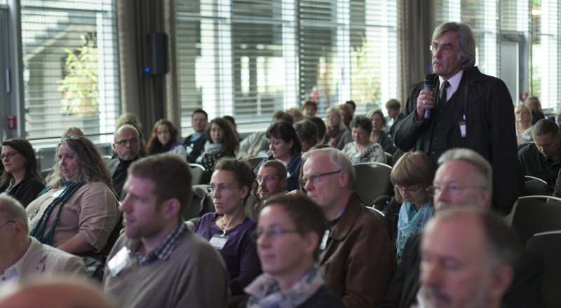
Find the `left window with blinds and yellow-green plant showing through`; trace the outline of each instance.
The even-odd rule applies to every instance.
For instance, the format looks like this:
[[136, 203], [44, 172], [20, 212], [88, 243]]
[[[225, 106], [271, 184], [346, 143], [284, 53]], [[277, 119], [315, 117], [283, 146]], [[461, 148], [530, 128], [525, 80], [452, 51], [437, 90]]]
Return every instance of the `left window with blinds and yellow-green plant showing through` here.
[[114, 0], [21, 1], [27, 139], [114, 132], [119, 76]]

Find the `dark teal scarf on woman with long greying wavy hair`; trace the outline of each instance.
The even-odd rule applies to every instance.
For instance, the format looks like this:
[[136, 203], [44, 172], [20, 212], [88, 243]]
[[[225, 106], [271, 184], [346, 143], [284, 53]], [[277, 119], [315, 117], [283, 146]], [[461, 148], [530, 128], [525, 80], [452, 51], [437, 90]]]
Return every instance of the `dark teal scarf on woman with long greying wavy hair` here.
[[[55, 197], [53, 202], [50, 202], [50, 204], [45, 209], [45, 211], [43, 211], [43, 215], [41, 215], [39, 221], [33, 227], [31, 232], [29, 232], [30, 236], [35, 237], [37, 240], [41, 241], [41, 243], [50, 246], [53, 245], [53, 235], [55, 235], [55, 228], [57, 228], [58, 220], [60, 218], [60, 210], [62, 209], [62, 207], [64, 207], [65, 205], [64, 203], [69, 199], [69, 197], [72, 197], [72, 195], [76, 193], [76, 190], [81, 188], [84, 184], [82, 180], [75, 182], [75, 181], [66, 181], [64, 178], [62, 179], [62, 183], [64, 183], [66, 186], [65, 190], [63, 190], [62, 193], [60, 193], [60, 195]], [[37, 197], [40, 197], [41, 195], [47, 193], [50, 190], [50, 188], [51, 186], [48, 186], [43, 190], [41, 190], [41, 193], [39, 193]], [[57, 206], [58, 204], [60, 204], [60, 206], [58, 207], [57, 216], [55, 218], [55, 222], [53, 223], [53, 227], [51, 227], [50, 230], [48, 230], [48, 232], [45, 234], [48, 218], [50, 217], [50, 214], [53, 214], [53, 210], [55, 209], [55, 206]]]

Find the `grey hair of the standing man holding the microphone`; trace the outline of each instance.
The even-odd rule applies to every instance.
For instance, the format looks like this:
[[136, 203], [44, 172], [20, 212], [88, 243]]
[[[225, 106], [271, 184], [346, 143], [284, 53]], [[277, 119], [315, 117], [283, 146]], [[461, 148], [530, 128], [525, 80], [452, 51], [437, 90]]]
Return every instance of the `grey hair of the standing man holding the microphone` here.
[[464, 62], [461, 63], [461, 69], [464, 71], [471, 69], [475, 66], [475, 38], [473, 38], [470, 27], [459, 22], [445, 22], [434, 29], [431, 45], [447, 31], [453, 31], [457, 34], [459, 57], [464, 58]]

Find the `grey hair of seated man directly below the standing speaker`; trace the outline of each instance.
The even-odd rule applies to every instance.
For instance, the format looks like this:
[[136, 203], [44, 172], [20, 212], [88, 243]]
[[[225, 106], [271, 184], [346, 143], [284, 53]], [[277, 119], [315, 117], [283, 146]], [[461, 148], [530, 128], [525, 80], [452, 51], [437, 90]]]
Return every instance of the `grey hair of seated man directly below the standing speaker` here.
[[[452, 148], [438, 158], [438, 165], [442, 167], [448, 162], [461, 160], [473, 166], [478, 176], [478, 184], [493, 193], [493, 168], [479, 153], [468, 148]], [[489, 198], [490, 201], [491, 198]]]

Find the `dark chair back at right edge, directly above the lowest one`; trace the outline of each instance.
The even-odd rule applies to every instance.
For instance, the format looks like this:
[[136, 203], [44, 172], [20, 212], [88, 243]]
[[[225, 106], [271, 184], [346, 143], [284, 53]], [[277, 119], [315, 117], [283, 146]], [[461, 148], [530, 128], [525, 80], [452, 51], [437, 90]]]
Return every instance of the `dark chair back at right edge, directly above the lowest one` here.
[[[547, 202], [548, 198], [552, 202]], [[561, 199], [551, 196], [519, 197], [512, 228], [518, 232], [522, 245], [536, 233], [561, 230]]]

